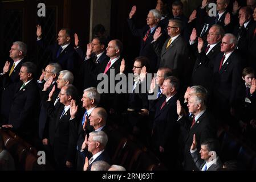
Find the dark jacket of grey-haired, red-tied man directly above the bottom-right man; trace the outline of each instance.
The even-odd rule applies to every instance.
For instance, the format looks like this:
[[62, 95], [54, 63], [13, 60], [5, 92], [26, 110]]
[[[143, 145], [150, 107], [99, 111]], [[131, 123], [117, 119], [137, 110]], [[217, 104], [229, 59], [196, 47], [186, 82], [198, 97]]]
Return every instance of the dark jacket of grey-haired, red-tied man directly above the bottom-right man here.
[[190, 154], [190, 147], [193, 143], [193, 135], [196, 134], [197, 150], [200, 151], [201, 143], [204, 142], [204, 140], [208, 138], [216, 138], [216, 124], [213, 123], [212, 115], [210, 115], [208, 111], [205, 111], [205, 113], [197, 119], [197, 122], [193, 125], [193, 127], [191, 127], [192, 122], [186, 117], [180, 118], [178, 123], [180, 123], [181, 127], [188, 132], [187, 136], [184, 136], [184, 169], [189, 171], [197, 170], [197, 167], [194, 164]]

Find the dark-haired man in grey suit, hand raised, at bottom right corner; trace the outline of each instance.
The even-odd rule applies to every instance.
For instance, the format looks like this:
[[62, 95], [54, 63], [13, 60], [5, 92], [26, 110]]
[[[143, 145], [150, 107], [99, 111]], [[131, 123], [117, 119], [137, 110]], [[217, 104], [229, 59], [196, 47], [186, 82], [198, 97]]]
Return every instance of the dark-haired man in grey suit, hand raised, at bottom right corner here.
[[218, 169], [222, 168], [222, 162], [218, 157], [219, 151], [220, 144], [218, 143], [218, 140], [206, 139], [201, 144], [201, 156], [199, 156], [197, 152], [196, 135], [194, 134], [193, 143], [190, 147], [190, 153], [194, 163], [200, 171], [217, 171]]

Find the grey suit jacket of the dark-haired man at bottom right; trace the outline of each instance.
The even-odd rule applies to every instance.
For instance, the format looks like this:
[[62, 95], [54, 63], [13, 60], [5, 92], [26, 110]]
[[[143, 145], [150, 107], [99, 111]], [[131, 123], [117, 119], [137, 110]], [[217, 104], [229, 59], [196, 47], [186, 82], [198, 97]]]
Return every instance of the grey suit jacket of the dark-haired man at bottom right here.
[[[205, 160], [201, 159], [201, 156], [198, 154], [198, 152], [193, 152], [191, 155], [197, 168], [201, 171], [202, 167], [204, 167], [206, 163]], [[212, 164], [212, 166], [210, 166], [207, 171], [217, 171], [220, 168], [222, 168], [222, 162], [220, 158], [217, 158], [216, 164]]]

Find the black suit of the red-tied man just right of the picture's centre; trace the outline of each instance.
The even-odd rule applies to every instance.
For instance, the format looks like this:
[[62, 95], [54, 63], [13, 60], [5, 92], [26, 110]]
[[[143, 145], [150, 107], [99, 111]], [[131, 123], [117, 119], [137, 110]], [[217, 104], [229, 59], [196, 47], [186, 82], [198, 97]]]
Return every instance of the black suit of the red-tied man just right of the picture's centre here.
[[[158, 102], [152, 130], [153, 148], [162, 162], [170, 169], [177, 167], [177, 158], [173, 158], [177, 156], [177, 150], [173, 148], [177, 148], [178, 143], [177, 100], [178, 96], [175, 94], [162, 109], [160, 108], [165, 100]], [[163, 153], [160, 152], [160, 146], [164, 148]]]

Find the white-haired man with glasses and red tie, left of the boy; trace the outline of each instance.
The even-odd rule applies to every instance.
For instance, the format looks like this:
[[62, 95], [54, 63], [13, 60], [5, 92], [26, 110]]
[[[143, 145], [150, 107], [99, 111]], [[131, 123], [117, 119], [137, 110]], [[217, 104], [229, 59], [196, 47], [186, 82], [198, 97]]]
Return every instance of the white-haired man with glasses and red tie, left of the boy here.
[[237, 107], [241, 84], [241, 58], [235, 51], [238, 40], [233, 34], [222, 38], [221, 52], [213, 68], [213, 110], [220, 123], [236, 124], [232, 117]]

